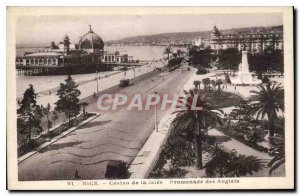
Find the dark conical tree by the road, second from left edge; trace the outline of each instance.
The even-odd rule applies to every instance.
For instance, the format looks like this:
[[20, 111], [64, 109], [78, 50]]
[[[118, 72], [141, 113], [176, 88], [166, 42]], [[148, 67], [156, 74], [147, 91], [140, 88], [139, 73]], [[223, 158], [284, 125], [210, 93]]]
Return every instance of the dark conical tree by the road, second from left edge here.
[[69, 120], [69, 126], [71, 126], [71, 118], [75, 117], [80, 112], [79, 95], [81, 92], [77, 89], [78, 85], [72, 79], [71, 75], [68, 75], [64, 83], [60, 83], [60, 87], [56, 93], [59, 99], [55, 103], [55, 110], [63, 112]]

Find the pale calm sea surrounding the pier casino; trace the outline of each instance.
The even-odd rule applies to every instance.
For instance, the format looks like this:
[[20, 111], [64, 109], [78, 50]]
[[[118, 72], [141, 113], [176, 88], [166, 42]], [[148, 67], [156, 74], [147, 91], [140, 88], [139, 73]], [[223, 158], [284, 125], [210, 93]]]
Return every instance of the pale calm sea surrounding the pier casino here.
[[[119, 51], [121, 54], [128, 54], [133, 56], [133, 59], [140, 61], [153, 61], [163, 58], [163, 46], [107, 46], [105, 51]], [[37, 52], [45, 50], [43, 47], [28, 47], [16, 48], [16, 54], [22, 56], [24, 52]], [[99, 76], [110, 74], [110, 72], [98, 73]], [[95, 73], [78, 74], [72, 76], [76, 82], [90, 80], [95, 77]], [[28, 88], [29, 84], [34, 86], [36, 92], [45, 91], [47, 89], [56, 88], [61, 82], [64, 81], [66, 76], [16, 76], [17, 97], [22, 96], [24, 91]]]

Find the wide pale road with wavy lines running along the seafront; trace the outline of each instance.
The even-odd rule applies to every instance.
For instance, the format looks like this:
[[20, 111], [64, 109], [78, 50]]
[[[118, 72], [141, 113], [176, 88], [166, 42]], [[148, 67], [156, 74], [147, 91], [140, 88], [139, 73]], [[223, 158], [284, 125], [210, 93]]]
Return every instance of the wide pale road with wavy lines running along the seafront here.
[[[157, 74], [119, 89], [116, 93], [181, 93], [191, 71]], [[131, 163], [154, 130], [154, 111], [99, 111], [96, 99], [87, 107], [101, 115], [19, 164], [19, 180], [71, 180], [77, 170], [81, 179], [104, 179], [110, 160]], [[160, 120], [166, 111], [158, 111]]]

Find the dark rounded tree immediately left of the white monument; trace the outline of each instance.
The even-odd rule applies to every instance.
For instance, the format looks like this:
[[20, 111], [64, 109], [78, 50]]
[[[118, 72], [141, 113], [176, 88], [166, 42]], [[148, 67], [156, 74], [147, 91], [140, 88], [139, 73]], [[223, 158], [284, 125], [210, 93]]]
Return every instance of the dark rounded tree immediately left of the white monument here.
[[219, 68], [221, 69], [233, 69], [234, 71], [238, 68], [241, 62], [241, 55], [238, 49], [228, 48], [221, 50], [219, 54]]

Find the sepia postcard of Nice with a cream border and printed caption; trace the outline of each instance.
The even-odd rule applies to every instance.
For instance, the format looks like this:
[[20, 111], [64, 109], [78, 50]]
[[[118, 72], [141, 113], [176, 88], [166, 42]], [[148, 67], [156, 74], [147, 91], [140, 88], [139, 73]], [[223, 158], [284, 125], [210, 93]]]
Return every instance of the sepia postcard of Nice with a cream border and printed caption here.
[[294, 188], [293, 7], [7, 12], [11, 189]]

